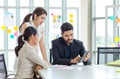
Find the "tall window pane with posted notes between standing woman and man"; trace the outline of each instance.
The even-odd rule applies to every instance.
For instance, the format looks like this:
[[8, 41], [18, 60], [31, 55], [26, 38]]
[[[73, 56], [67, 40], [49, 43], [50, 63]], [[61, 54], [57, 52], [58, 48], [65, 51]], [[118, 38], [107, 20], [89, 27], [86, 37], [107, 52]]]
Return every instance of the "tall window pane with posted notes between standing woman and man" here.
[[61, 24], [62, 24], [62, 10], [50, 9], [49, 10], [49, 44], [51, 44], [52, 40], [58, 38], [61, 35], [60, 34]]

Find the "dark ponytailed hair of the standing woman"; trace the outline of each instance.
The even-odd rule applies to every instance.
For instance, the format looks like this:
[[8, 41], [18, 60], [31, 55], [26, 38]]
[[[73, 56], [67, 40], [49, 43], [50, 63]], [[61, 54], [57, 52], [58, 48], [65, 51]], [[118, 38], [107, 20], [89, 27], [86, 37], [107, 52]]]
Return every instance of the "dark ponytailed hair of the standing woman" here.
[[19, 27], [19, 30], [21, 31], [21, 27], [22, 27], [22, 25], [25, 23], [25, 22], [30, 22], [30, 17], [32, 16], [32, 20], [34, 20], [34, 15], [37, 15], [37, 17], [38, 16], [40, 16], [40, 15], [42, 15], [42, 14], [46, 14], [46, 16], [47, 16], [47, 11], [44, 9], [44, 8], [42, 8], [42, 7], [37, 7], [34, 11], [33, 11], [33, 13], [29, 13], [29, 14], [27, 14], [25, 17], [24, 17], [24, 19], [23, 19], [23, 22], [22, 22], [22, 24], [20, 25], [20, 27]]

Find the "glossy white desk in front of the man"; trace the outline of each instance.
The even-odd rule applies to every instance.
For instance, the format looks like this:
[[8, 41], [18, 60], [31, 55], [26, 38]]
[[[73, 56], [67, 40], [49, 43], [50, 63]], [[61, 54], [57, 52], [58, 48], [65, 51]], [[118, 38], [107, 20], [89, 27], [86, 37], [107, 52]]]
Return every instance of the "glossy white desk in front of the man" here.
[[120, 79], [118, 69], [120, 67], [104, 65], [66, 66], [50, 67], [39, 73], [43, 79]]

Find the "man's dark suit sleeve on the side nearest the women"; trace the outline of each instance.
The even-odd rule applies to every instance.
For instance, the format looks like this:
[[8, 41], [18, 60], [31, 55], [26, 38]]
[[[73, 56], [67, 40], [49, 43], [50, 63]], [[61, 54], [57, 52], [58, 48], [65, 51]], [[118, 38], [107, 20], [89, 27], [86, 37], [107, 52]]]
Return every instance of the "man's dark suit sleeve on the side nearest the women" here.
[[52, 42], [53, 64], [71, 65], [71, 59], [60, 58], [59, 52], [61, 51], [58, 49], [57, 45]]

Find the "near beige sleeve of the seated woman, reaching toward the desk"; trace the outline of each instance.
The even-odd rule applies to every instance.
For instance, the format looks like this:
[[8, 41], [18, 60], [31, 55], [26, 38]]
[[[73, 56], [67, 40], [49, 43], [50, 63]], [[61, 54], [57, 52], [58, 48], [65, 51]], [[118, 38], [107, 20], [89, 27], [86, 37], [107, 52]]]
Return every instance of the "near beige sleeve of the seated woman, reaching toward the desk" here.
[[33, 62], [35, 62], [36, 64], [41, 65], [43, 68], [47, 69], [48, 68], [48, 63], [45, 62], [44, 60], [42, 60], [38, 54], [36, 53], [36, 51], [34, 49], [29, 49], [27, 51], [27, 58]]

